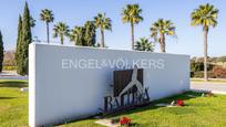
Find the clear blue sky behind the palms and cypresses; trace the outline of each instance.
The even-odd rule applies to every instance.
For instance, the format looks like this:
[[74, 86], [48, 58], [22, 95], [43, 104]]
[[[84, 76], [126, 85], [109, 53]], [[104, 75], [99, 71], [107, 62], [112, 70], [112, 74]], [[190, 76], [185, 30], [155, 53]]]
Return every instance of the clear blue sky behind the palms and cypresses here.
[[[1, 0], [0, 30], [3, 34], [6, 50], [16, 46], [18, 17], [23, 11], [25, 0]], [[150, 36], [150, 27], [158, 18], [170, 19], [176, 25], [178, 39], [167, 38], [166, 52], [176, 54], [203, 55], [203, 31], [199, 27], [191, 27], [191, 12], [202, 3], [212, 3], [219, 9], [218, 25], [210, 29], [208, 38], [208, 54], [210, 56], [226, 55], [226, 1], [225, 0], [28, 0], [37, 25], [32, 29], [33, 36], [45, 40], [45, 24], [41, 22], [40, 11], [50, 9], [55, 20], [65, 22], [70, 28], [82, 25], [92, 20], [99, 12], [105, 12], [112, 19], [113, 31], [105, 32], [105, 43], [111, 49], [131, 49], [130, 24], [122, 23], [122, 8], [129, 3], [138, 3], [143, 9], [144, 21], [135, 25], [135, 40]], [[51, 24], [51, 30], [53, 24]], [[52, 36], [52, 31], [51, 31]], [[97, 42], [100, 33], [97, 31]], [[52, 39], [55, 43], [56, 39]], [[66, 44], [72, 44], [66, 40]], [[158, 44], [155, 46], [158, 52]]]

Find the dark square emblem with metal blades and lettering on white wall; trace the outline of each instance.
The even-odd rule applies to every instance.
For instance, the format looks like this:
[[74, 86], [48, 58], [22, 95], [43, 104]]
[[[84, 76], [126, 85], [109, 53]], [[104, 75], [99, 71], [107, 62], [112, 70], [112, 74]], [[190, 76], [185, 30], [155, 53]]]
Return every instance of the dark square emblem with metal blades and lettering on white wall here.
[[150, 103], [148, 88], [143, 85], [143, 70], [114, 71], [114, 93], [104, 97], [104, 113], [114, 113]]

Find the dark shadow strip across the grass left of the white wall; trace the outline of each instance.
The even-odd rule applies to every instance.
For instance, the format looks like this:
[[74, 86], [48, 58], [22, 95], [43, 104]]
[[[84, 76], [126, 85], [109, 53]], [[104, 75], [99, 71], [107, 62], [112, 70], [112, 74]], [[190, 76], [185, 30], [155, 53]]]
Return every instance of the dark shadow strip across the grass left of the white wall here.
[[0, 81], [0, 87], [28, 87], [28, 82], [25, 81]]

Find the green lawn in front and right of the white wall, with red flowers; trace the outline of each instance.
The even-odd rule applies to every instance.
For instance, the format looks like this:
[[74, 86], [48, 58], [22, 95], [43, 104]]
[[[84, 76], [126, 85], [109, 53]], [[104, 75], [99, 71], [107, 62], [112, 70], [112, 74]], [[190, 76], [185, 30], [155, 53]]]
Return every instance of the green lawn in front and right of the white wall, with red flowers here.
[[[189, 98], [186, 95], [195, 95]], [[155, 107], [156, 103], [171, 103], [174, 99], [185, 99], [185, 107]], [[197, 93], [186, 93], [162, 100], [156, 100], [153, 105], [140, 109], [121, 113], [117, 116], [126, 116], [141, 127], [170, 126], [170, 127], [197, 127], [197, 126], [226, 126], [226, 96], [201, 97]], [[63, 126], [96, 126], [94, 119], [74, 121]], [[101, 126], [100, 126], [101, 127]]]

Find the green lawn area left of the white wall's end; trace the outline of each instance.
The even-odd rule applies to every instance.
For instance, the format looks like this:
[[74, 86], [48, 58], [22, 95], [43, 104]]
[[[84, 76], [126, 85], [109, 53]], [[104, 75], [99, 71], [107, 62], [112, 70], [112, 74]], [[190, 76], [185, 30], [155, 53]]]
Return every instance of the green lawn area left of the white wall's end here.
[[28, 93], [19, 89], [27, 85], [25, 81], [0, 81], [0, 127], [28, 126]]

